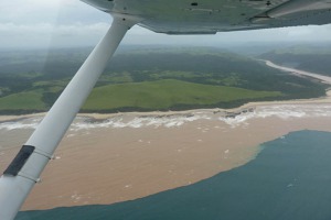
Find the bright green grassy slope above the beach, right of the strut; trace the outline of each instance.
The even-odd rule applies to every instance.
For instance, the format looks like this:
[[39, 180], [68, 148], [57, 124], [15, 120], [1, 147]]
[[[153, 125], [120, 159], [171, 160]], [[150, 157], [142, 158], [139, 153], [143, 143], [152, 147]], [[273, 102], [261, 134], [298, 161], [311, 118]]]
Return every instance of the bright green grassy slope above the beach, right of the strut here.
[[83, 110], [121, 108], [166, 110], [178, 105], [217, 105], [243, 99], [280, 96], [281, 92], [277, 91], [254, 91], [164, 79], [98, 87], [92, 92]]

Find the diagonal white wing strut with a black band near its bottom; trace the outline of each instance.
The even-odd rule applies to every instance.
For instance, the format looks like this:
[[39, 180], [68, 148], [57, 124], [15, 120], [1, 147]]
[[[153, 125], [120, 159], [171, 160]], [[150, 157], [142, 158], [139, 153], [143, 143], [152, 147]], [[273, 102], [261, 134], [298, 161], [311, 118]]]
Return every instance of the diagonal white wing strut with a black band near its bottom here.
[[132, 16], [115, 15], [111, 28], [93, 50], [49, 113], [0, 178], [0, 219], [12, 220], [57, 147], [76, 113], [90, 94]]

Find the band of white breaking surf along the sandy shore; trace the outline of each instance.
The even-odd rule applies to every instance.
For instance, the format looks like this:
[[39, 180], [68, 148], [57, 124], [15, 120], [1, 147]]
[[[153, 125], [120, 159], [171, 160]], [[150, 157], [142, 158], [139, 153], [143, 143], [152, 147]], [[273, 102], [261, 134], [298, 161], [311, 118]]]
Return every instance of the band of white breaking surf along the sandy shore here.
[[[225, 110], [196, 110], [190, 113], [159, 113], [156, 116], [131, 116], [128, 113], [109, 117], [105, 120], [96, 120], [88, 117], [77, 117], [74, 123], [71, 125], [71, 131], [102, 128], [175, 128], [197, 120], [213, 120], [225, 122], [231, 127], [237, 127], [242, 124], [248, 124], [249, 120], [252, 119], [264, 119], [269, 117], [276, 117], [282, 120], [291, 118], [331, 117], [331, 105], [270, 105], [236, 112], [227, 112]], [[35, 129], [41, 120], [42, 118], [40, 117], [31, 117], [17, 121], [0, 122], [0, 131]]]

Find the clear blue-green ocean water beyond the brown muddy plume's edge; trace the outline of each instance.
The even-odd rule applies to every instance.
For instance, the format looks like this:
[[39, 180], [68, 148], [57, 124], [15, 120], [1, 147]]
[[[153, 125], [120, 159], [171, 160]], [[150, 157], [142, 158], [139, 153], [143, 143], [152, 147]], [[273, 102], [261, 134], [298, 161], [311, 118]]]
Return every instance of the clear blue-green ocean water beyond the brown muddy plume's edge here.
[[190, 186], [109, 206], [25, 211], [15, 220], [330, 220], [331, 133], [293, 132], [261, 147], [246, 165]]

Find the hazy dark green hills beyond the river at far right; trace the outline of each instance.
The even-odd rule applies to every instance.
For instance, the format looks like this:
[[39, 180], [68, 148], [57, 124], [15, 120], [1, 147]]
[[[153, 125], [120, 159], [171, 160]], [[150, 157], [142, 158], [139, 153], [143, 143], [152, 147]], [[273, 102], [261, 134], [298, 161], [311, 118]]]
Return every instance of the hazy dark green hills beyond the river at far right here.
[[331, 76], [331, 46], [291, 46], [259, 56], [276, 64]]

